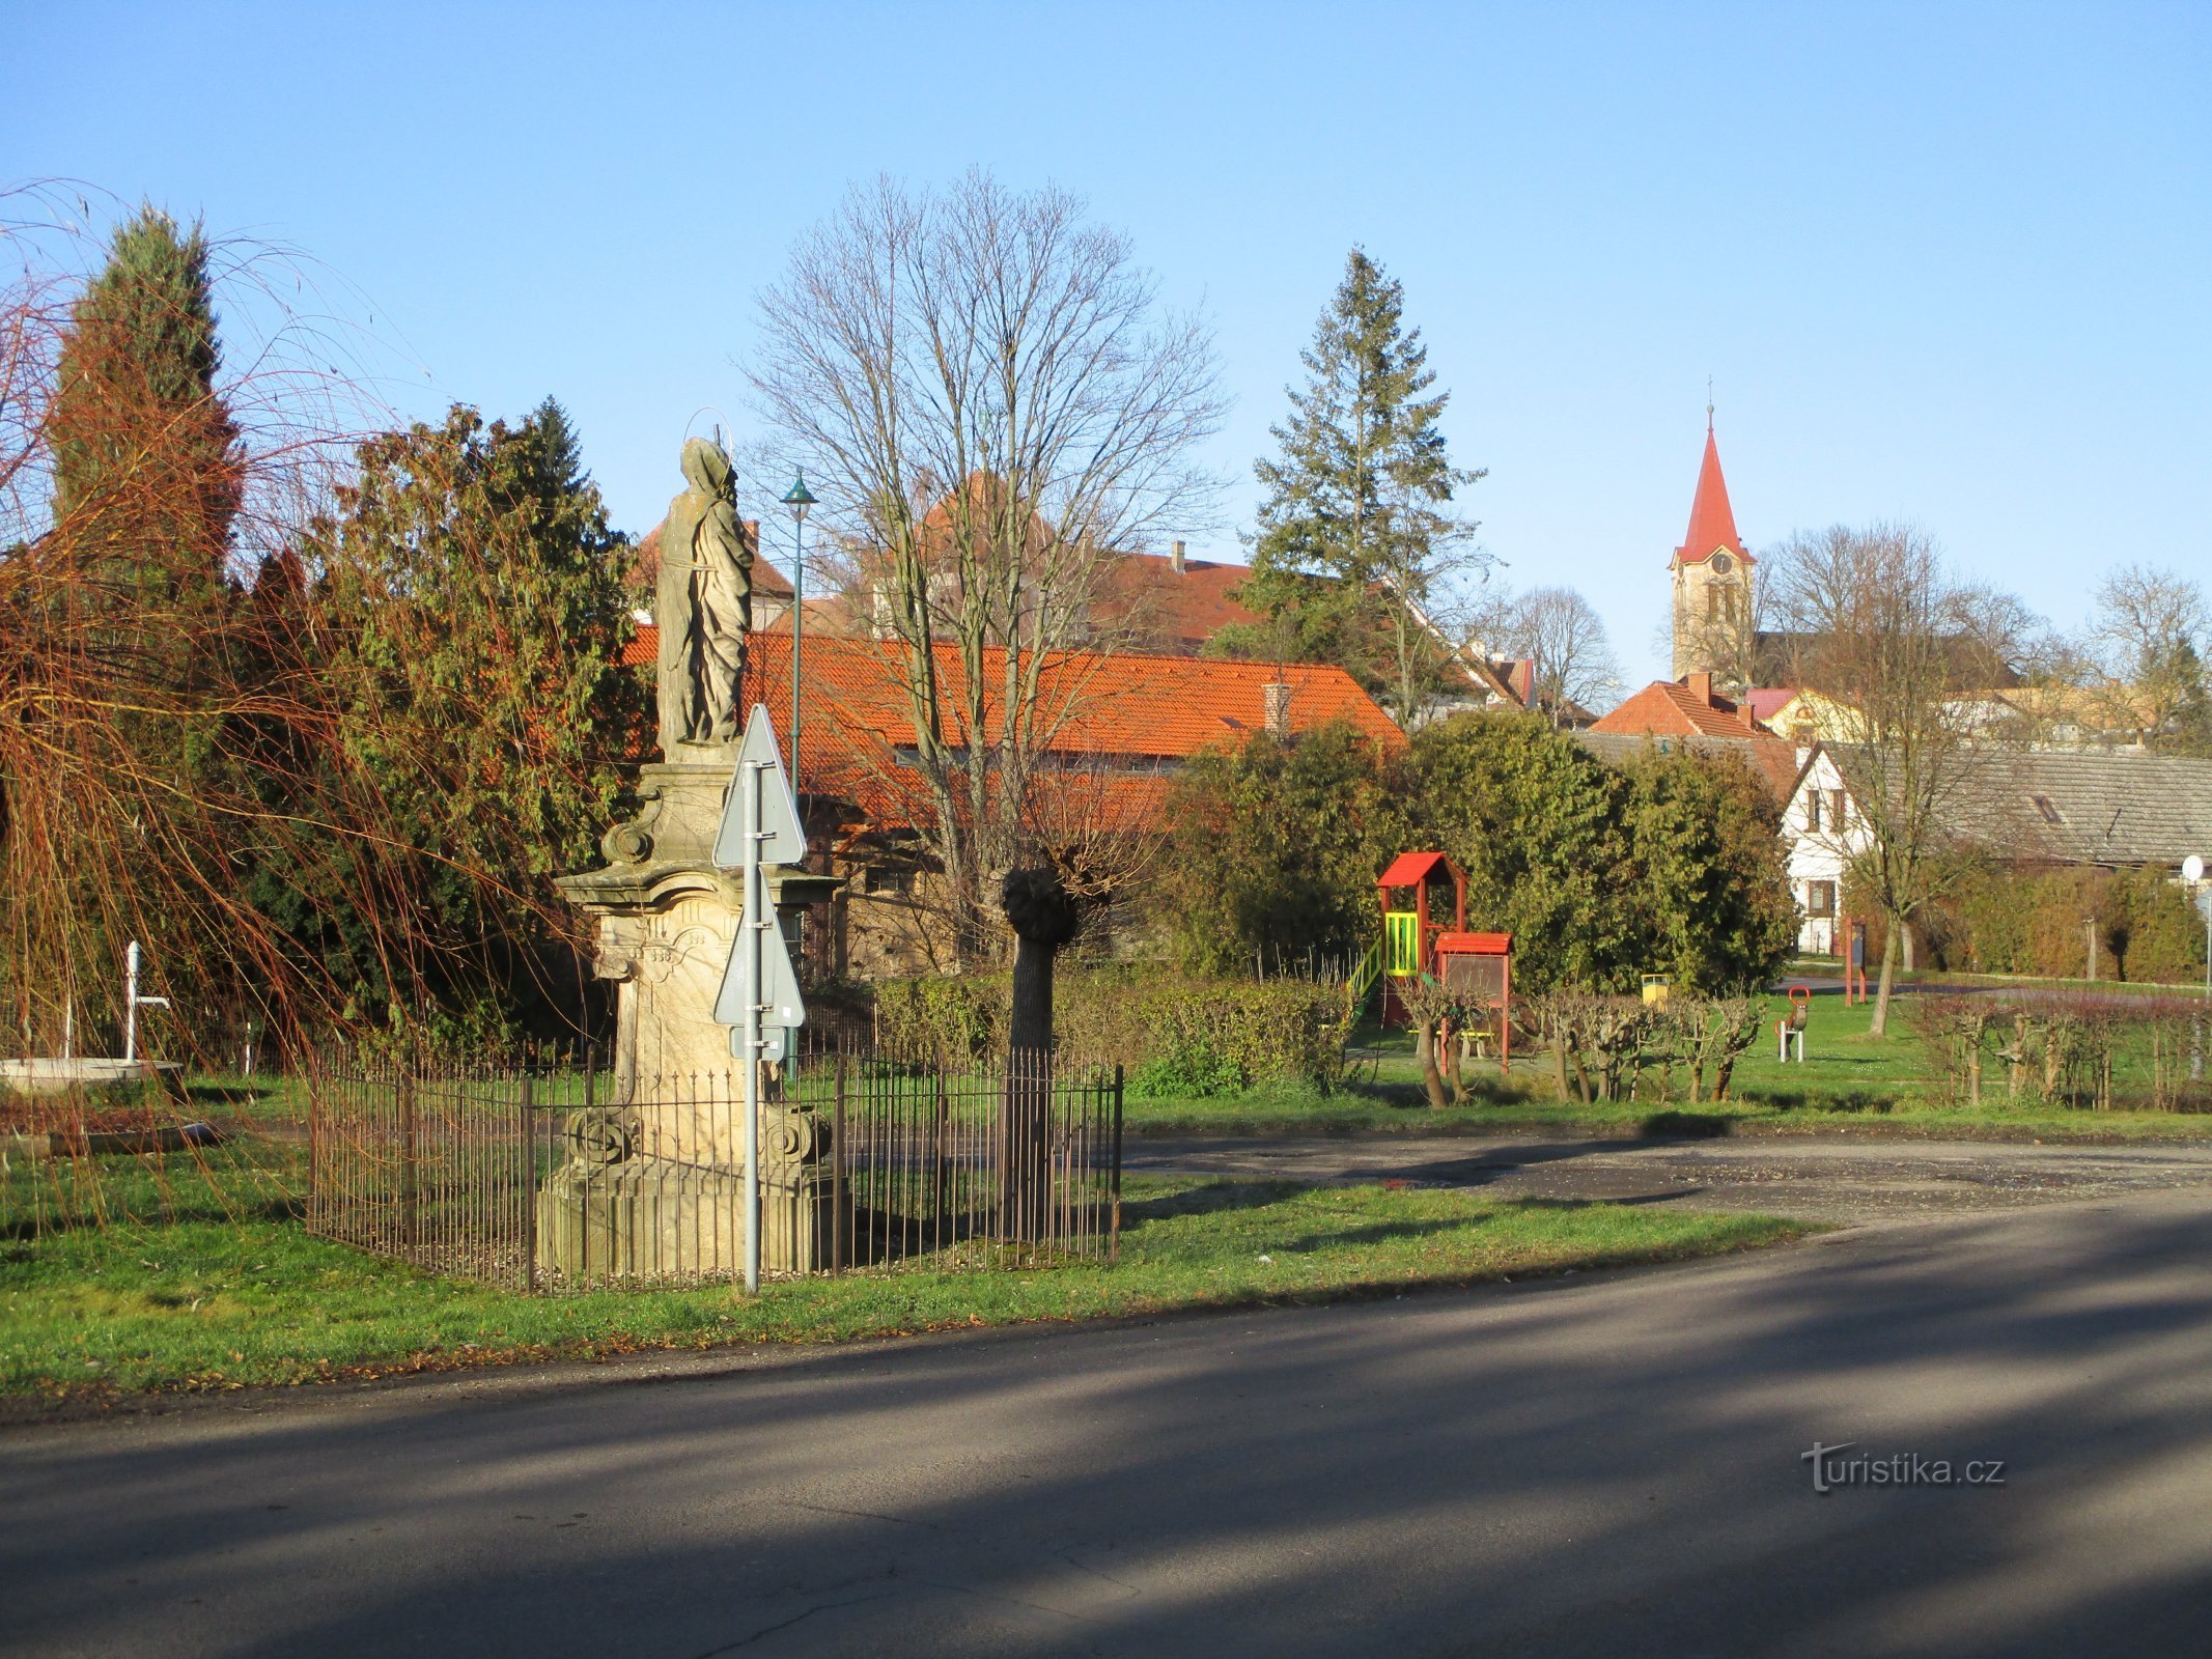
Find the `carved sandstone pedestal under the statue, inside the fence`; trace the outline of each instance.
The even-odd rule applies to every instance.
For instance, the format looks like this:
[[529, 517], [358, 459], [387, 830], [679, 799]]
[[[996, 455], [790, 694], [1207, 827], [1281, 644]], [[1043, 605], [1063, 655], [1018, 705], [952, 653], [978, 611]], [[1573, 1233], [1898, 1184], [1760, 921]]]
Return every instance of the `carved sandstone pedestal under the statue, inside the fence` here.
[[[639, 776], [641, 812], [602, 836], [606, 867], [560, 889], [597, 918], [595, 969], [615, 991], [615, 1086], [573, 1115], [571, 1157], [538, 1199], [540, 1265], [566, 1274], [726, 1274], [743, 1263], [743, 1075], [714, 995], [745, 894], [714, 869], [714, 832], [737, 750], [681, 745]], [[779, 914], [836, 883], [774, 872]], [[821, 1161], [827, 1126], [763, 1108], [761, 1267], [830, 1259]]]

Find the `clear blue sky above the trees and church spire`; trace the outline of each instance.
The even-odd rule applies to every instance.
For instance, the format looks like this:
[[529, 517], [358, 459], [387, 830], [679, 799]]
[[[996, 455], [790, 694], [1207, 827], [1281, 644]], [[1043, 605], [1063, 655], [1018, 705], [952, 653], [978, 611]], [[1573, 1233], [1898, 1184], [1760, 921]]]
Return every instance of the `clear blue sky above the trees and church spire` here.
[[1588, 593], [1630, 684], [1708, 376], [1754, 549], [1909, 518], [2062, 624], [2117, 562], [2212, 575], [2212, 7], [9, 11], [0, 179], [301, 248], [403, 414], [560, 396], [635, 531], [695, 411], [748, 429], [792, 239], [984, 164], [1212, 314], [1232, 524], [1363, 243], [1504, 580]]

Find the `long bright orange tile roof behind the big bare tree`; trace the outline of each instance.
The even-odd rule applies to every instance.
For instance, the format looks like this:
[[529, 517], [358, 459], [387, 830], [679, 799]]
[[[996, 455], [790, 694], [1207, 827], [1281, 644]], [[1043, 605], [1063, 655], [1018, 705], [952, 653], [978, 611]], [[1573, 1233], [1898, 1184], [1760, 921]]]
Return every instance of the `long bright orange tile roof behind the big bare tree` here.
[[[646, 624], [622, 659], [653, 664], [657, 653], [659, 630]], [[765, 701], [779, 728], [790, 719], [790, 633], [752, 637], [741, 703]], [[1006, 653], [987, 650], [982, 670], [987, 684], [998, 686]], [[858, 803], [880, 827], [911, 825], [927, 812], [920, 774], [907, 759], [916, 737], [905, 672], [905, 655], [891, 641], [812, 635], [805, 641], [801, 785], [807, 794]], [[964, 686], [953, 646], [938, 646], [936, 672], [951, 717]], [[1276, 679], [1292, 688], [1294, 732], [1347, 721], [1376, 743], [1405, 743], [1405, 734], [1343, 668], [1287, 664], [1279, 670], [1254, 661], [1068, 650], [1048, 657], [1040, 670], [1040, 750], [1062, 757], [1062, 765], [1095, 757], [1115, 770], [1062, 770], [1044, 781], [1044, 790], [1068, 807], [1091, 803], [1086, 810], [1115, 821], [1155, 823], [1166, 803], [1166, 781], [1148, 768], [1186, 761], [1208, 745], [1237, 745], [1265, 730], [1263, 686]], [[987, 697], [987, 726], [1002, 706], [998, 695]], [[962, 734], [947, 730], [945, 741], [960, 745]]]

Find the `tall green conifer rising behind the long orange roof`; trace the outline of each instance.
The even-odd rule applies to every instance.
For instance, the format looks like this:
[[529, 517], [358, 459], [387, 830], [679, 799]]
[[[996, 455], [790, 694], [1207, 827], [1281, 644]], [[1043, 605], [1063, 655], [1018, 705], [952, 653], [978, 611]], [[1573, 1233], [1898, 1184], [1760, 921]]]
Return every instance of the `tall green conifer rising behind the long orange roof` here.
[[1411, 719], [1442, 657], [1425, 626], [1440, 588], [1480, 564], [1453, 493], [1482, 478], [1451, 465], [1429, 347], [1405, 327], [1405, 288], [1354, 248], [1336, 299], [1301, 354], [1305, 389], [1272, 427], [1281, 451], [1254, 471], [1259, 511], [1243, 597], [1272, 628], [1237, 639], [1336, 661]]

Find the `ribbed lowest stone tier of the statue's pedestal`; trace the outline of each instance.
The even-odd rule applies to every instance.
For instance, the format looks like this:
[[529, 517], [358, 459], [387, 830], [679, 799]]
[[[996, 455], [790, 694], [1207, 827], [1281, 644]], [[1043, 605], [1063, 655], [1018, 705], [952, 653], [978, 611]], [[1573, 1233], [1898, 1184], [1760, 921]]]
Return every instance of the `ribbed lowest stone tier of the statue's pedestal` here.
[[[761, 1272], [852, 1263], [816, 1170], [761, 1181]], [[745, 1270], [741, 1170], [633, 1157], [564, 1164], [538, 1194], [538, 1267], [564, 1279], [739, 1276]]]

